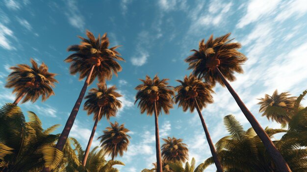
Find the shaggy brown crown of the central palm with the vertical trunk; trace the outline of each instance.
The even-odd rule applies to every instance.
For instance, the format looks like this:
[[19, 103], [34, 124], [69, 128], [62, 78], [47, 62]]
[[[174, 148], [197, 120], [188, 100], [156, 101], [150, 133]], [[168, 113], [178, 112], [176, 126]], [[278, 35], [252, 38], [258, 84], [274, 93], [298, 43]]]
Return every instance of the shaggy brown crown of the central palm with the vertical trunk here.
[[136, 93], [134, 104], [139, 101], [138, 107], [141, 108], [143, 114], [147, 111], [147, 115], [152, 115], [154, 112], [154, 102], [156, 102], [157, 114], [164, 111], [169, 113], [169, 109], [173, 108], [175, 96], [174, 87], [168, 85], [169, 79], [160, 79], [157, 75], [153, 79], [146, 75], [145, 79], [139, 79], [143, 83], [135, 87]]

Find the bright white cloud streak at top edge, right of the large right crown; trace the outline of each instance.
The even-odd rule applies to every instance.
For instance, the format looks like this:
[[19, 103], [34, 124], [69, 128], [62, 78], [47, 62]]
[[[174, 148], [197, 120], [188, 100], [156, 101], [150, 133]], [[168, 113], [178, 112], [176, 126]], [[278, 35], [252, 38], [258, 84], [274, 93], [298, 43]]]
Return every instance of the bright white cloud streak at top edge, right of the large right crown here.
[[262, 16], [267, 16], [276, 12], [275, 9], [280, 1], [281, 0], [251, 0], [248, 4], [245, 16], [240, 19], [236, 26], [242, 28], [245, 25], [258, 21]]

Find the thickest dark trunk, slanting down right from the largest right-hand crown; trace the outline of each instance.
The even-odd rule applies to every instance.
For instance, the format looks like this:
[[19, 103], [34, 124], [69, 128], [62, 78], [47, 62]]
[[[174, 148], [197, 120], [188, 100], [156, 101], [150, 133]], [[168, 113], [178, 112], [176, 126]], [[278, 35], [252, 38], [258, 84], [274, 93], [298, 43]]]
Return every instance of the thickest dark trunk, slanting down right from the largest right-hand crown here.
[[237, 102], [238, 106], [240, 107], [241, 111], [245, 115], [246, 119], [251, 123], [252, 127], [254, 128], [256, 134], [261, 139], [263, 145], [266, 147], [266, 150], [271, 155], [274, 163], [276, 164], [276, 167], [279, 172], [291, 172], [287, 162], [283, 159], [281, 153], [277, 150], [273, 142], [271, 141], [268, 134], [263, 130], [261, 125], [258, 123], [254, 115], [248, 110], [248, 108], [245, 106], [243, 101], [239, 98], [237, 93], [233, 90], [233, 88], [230, 86], [229, 82], [225, 79], [224, 75], [221, 73], [221, 71], [216, 68], [216, 71], [218, 72], [219, 76], [221, 77], [223, 83], [226, 85], [227, 89], [229, 90], [232, 97]]

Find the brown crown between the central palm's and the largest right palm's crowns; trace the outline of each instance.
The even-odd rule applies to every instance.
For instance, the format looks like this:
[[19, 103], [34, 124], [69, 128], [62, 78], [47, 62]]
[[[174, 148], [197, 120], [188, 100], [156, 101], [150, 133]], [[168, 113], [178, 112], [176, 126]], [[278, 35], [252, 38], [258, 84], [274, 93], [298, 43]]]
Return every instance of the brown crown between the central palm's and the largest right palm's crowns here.
[[175, 102], [179, 102], [178, 106], [182, 106], [184, 112], [188, 108], [190, 108], [191, 112], [194, 111], [194, 98], [196, 98], [200, 109], [205, 108], [208, 103], [214, 102], [212, 86], [198, 79], [195, 75], [185, 75], [183, 81], [176, 81], [180, 82], [181, 85], [175, 87], [177, 92]]

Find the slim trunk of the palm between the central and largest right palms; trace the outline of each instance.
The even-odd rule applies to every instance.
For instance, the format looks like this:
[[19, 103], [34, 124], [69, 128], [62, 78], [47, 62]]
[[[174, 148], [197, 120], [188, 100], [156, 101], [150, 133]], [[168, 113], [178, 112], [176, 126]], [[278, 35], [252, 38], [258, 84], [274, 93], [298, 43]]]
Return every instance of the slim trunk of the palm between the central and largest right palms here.
[[203, 117], [202, 112], [201, 112], [201, 110], [199, 108], [199, 105], [197, 103], [196, 98], [194, 98], [194, 102], [195, 102], [195, 105], [196, 105], [196, 109], [197, 109], [199, 118], [201, 119], [202, 124], [203, 124], [203, 128], [204, 128], [204, 131], [205, 131], [206, 139], [208, 141], [208, 144], [209, 144], [209, 147], [210, 147], [210, 151], [211, 151], [211, 154], [212, 154], [212, 157], [213, 157], [216, 169], [217, 169], [218, 172], [223, 172], [223, 168], [222, 168], [221, 162], [219, 161], [219, 158], [217, 156], [216, 150], [215, 150], [214, 145], [212, 143], [212, 140], [211, 140], [208, 128], [207, 128], [207, 126], [205, 124], [204, 117]]

